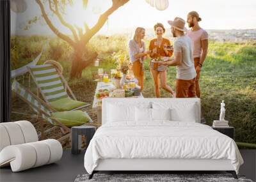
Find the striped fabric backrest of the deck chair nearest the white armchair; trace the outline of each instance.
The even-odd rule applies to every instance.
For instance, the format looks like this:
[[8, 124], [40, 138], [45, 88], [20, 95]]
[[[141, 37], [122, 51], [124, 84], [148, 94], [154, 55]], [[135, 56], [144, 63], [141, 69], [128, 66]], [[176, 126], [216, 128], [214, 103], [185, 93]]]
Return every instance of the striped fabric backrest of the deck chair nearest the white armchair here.
[[[26, 102], [30, 103], [29, 105], [35, 110], [36, 113], [40, 112], [40, 110], [44, 110], [49, 116], [51, 116], [51, 111], [44, 107], [41, 103], [39, 103], [33, 95], [28, 93], [24, 87], [22, 87], [19, 82], [13, 81], [12, 91], [14, 91], [17, 95], [23, 98]], [[53, 125], [52, 119], [42, 114], [42, 118]]]

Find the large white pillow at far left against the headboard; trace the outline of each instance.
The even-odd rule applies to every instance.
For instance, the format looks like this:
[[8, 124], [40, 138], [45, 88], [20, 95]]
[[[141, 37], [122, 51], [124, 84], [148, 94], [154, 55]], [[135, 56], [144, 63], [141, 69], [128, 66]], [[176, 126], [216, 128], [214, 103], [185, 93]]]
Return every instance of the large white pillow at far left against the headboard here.
[[122, 106], [108, 105], [108, 122], [118, 121], [136, 121], [135, 107], [134, 106]]

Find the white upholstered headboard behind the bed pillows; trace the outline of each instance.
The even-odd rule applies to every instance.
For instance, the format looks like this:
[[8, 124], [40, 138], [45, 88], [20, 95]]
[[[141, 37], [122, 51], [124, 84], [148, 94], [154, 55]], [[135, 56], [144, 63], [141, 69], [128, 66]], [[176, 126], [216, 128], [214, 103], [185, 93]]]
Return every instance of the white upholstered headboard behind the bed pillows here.
[[108, 105], [151, 105], [151, 103], [170, 103], [177, 105], [178, 103], [195, 103], [196, 105], [196, 123], [200, 123], [201, 106], [200, 98], [103, 98], [102, 99], [102, 125], [107, 122]]

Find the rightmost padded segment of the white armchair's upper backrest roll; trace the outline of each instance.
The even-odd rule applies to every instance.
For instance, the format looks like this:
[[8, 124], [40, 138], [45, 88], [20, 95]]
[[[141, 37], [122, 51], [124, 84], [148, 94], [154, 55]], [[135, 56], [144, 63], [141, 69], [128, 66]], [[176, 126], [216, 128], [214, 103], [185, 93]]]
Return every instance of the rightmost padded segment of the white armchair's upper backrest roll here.
[[38, 141], [38, 136], [35, 127], [29, 121], [15, 121], [23, 133], [25, 143]]

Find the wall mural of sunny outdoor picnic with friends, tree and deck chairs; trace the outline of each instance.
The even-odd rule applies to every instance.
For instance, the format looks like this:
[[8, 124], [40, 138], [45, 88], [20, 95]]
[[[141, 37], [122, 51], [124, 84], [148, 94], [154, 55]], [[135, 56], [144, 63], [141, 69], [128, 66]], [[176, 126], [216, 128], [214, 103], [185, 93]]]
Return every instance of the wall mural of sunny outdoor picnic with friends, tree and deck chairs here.
[[224, 100], [239, 148], [256, 148], [256, 3], [232, 2], [11, 0], [12, 120], [70, 148], [103, 98], [198, 97], [202, 123]]

